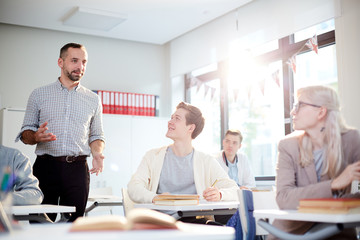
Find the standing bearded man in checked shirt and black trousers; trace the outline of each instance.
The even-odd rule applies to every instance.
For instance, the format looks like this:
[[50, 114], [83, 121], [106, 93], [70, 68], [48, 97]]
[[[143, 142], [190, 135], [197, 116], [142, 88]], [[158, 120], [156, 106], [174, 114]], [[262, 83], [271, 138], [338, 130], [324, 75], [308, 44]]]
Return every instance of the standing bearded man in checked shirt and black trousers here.
[[[61, 48], [61, 75], [31, 93], [16, 139], [36, 144], [33, 172], [44, 193], [42, 203], [75, 206], [69, 221], [84, 215], [89, 172], [98, 175], [104, 165], [101, 101], [80, 84], [87, 60], [83, 45], [68, 43]], [[93, 160], [89, 170], [86, 158], [90, 153]], [[56, 214], [48, 215], [55, 220]]]

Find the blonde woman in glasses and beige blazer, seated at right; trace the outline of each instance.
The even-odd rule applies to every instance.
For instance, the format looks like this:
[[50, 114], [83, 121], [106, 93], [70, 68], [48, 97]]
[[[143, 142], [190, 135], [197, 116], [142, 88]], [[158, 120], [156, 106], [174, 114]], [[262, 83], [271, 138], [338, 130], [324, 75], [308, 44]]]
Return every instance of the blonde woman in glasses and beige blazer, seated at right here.
[[[296, 131], [278, 145], [279, 208], [296, 209], [304, 198], [360, 198], [350, 194], [352, 181], [360, 179], [360, 134], [345, 125], [336, 92], [325, 86], [299, 89], [291, 115]], [[273, 225], [303, 234], [314, 223], [275, 220]], [[333, 238], [356, 239], [356, 231], [345, 229]]]

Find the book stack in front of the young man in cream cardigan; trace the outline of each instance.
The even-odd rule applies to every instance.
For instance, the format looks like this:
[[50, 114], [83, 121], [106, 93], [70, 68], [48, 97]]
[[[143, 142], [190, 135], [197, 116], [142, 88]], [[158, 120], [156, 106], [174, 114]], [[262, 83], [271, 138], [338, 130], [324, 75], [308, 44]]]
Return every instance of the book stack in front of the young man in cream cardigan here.
[[161, 194], [154, 199], [154, 204], [167, 206], [197, 205], [199, 198], [199, 195], [196, 194]]

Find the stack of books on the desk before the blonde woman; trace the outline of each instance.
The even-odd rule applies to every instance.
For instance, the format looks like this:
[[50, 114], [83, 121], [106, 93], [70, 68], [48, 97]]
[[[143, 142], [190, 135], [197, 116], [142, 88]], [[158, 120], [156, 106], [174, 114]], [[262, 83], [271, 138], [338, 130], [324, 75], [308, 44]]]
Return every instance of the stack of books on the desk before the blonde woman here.
[[298, 207], [303, 213], [351, 214], [360, 213], [360, 199], [314, 198], [301, 199]]

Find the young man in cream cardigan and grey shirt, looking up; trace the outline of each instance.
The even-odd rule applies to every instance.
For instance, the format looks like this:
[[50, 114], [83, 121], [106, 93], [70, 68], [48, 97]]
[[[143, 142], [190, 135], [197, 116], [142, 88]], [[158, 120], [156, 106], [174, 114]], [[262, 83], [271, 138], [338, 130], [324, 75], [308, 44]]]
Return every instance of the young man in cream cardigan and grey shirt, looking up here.
[[134, 202], [151, 203], [162, 193], [198, 194], [207, 201], [238, 199], [236, 183], [219, 163], [192, 146], [204, 124], [205, 119], [195, 106], [181, 102], [176, 107], [166, 133], [173, 144], [148, 151], [128, 184]]

